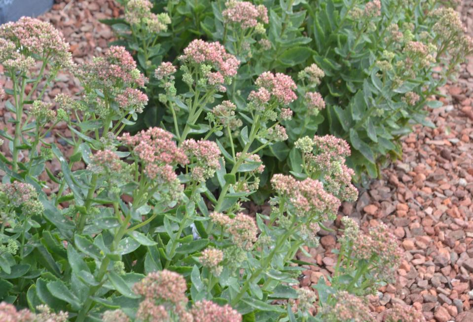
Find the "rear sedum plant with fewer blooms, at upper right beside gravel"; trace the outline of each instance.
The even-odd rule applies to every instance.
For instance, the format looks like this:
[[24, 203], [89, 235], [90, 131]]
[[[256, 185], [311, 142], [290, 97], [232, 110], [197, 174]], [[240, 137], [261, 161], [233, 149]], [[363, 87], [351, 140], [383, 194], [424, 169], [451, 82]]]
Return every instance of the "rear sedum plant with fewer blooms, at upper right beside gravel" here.
[[[425, 120], [428, 108], [441, 106], [433, 95], [454, 79], [457, 66], [473, 50], [458, 13], [449, 7], [454, 1], [122, 2], [125, 20], [107, 23], [138, 53], [144, 71], [161, 61], [176, 63], [188, 42], [206, 37], [219, 41], [241, 62], [238, 77], [221, 94], [238, 110], [245, 108], [261, 72], [283, 72], [297, 80], [298, 99], [291, 102], [294, 114], [286, 122], [289, 140], [262, 150], [263, 157], [277, 160], [266, 167], [269, 177], [281, 170], [297, 171], [294, 143], [314, 134], [335, 135], [350, 144], [353, 153], [347, 164], [357, 180], [378, 176], [382, 165], [400, 157], [399, 139], [414, 124], [433, 126]], [[136, 32], [127, 19], [135, 2], [172, 17], [171, 31], [163, 37], [146, 27]], [[146, 62], [140, 59], [146, 48], [141, 39], [158, 35], [160, 54]], [[148, 93], [157, 97], [159, 86], [151, 81]], [[176, 84], [181, 87], [185, 84]], [[172, 128], [168, 109], [160, 102], [148, 111], [152, 117], [137, 127], [162, 122]], [[185, 116], [178, 119], [184, 122]], [[253, 198], [262, 202], [267, 196], [268, 190], [260, 189]]]

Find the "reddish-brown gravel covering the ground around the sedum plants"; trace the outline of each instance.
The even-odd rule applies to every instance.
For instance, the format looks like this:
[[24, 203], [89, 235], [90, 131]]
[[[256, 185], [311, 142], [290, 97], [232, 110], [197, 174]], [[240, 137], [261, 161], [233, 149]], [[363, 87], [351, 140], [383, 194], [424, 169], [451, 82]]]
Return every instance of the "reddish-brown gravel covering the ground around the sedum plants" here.
[[[470, 4], [465, 2], [462, 12], [464, 21], [471, 27]], [[65, 1], [56, 4], [41, 19], [50, 21], [62, 31], [71, 43], [74, 61], [82, 63], [92, 56], [102, 56], [109, 41], [113, 40], [111, 29], [98, 19], [116, 18], [121, 14], [111, 0]], [[328, 228], [343, 228], [340, 219], [349, 216], [363, 231], [383, 222], [399, 240], [404, 259], [397, 270], [396, 282], [365, 297], [378, 321], [384, 321], [395, 304], [412, 305], [428, 321], [473, 321], [470, 299], [473, 297], [471, 66], [470, 61], [462, 65], [459, 82], [442, 88], [446, 94], [446, 98], [440, 98], [443, 107], [429, 110], [428, 120], [437, 128], [415, 127], [414, 133], [402, 139], [402, 160], [385, 169], [382, 179], [371, 181], [368, 189], [362, 188], [357, 202], [343, 203], [336, 220], [326, 222]], [[58, 93], [79, 91], [76, 78], [67, 73], [59, 74], [58, 78], [59, 82], [47, 92], [44, 101], [53, 100]], [[3, 87], [11, 88], [11, 83], [4, 81], [0, 80]], [[7, 122], [12, 115], [0, 108], [2, 122], [9, 133], [14, 132], [14, 124]], [[70, 138], [71, 131], [62, 123], [56, 129], [46, 141], [56, 143], [65, 156], [72, 156], [72, 148], [66, 147], [61, 138]], [[7, 143], [1, 151], [11, 157]], [[56, 159], [48, 161], [48, 167], [53, 174], [61, 171], [61, 164]], [[83, 168], [84, 164], [80, 162], [73, 166], [73, 170]], [[48, 181], [50, 191], [47, 193], [60, 189], [47, 174], [40, 179]], [[245, 206], [245, 212], [252, 216], [270, 214], [267, 204], [261, 207], [250, 202]], [[317, 285], [321, 277], [330, 276], [335, 270], [337, 257], [332, 250], [340, 247], [341, 236], [325, 230], [321, 230], [319, 236], [319, 247], [305, 249], [310, 256], [302, 252], [297, 254], [301, 263], [313, 264], [301, 264], [301, 288]], [[310, 311], [315, 312], [315, 308]]]

